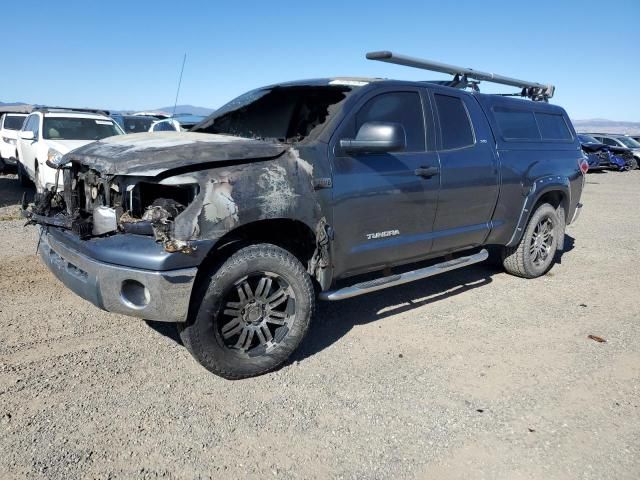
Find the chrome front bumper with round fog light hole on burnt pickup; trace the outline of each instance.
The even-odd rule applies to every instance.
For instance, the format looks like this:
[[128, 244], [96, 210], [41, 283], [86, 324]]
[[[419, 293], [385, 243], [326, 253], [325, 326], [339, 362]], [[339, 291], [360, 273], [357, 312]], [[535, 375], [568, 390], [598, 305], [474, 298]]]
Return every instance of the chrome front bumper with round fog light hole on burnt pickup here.
[[40, 256], [70, 290], [103, 310], [146, 320], [187, 320], [196, 267], [152, 271], [96, 261], [46, 228]]

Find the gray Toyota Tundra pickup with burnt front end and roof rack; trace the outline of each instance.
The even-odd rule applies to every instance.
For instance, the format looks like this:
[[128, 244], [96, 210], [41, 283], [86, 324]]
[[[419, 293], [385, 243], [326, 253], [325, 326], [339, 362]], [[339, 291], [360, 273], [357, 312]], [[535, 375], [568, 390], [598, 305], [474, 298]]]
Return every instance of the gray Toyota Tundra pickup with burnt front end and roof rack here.
[[[230, 379], [277, 368], [317, 298], [487, 259], [545, 274], [587, 163], [553, 87], [390, 52], [451, 82], [329, 78], [259, 88], [190, 132], [100, 140], [24, 215], [53, 273], [100, 308], [175, 322]], [[484, 76], [483, 76], [484, 75]], [[479, 93], [476, 80], [521, 88]], [[470, 87], [470, 91], [468, 88]]]

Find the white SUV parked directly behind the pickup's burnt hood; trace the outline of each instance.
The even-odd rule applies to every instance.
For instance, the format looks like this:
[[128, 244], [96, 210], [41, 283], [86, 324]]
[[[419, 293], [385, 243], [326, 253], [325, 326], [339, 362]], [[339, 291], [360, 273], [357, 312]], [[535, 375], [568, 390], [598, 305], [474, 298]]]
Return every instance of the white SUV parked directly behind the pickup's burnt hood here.
[[[124, 132], [112, 118], [82, 110], [39, 109], [31, 113], [18, 133], [18, 178], [23, 185], [33, 181], [41, 192], [56, 182], [56, 170], [47, 160], [57, 161], [62, 155], [87, 143]], [[62, 188], [62, 178], [58, 180]]]

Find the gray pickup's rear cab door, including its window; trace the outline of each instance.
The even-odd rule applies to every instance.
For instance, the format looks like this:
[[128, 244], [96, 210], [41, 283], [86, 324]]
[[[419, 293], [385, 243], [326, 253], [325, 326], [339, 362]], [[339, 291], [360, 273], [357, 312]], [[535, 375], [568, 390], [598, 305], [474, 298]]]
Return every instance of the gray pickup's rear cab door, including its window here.
[[464, 93], [432, 91], [438, 123], [440, 197], [434, 253], [482, 244], [498, 198], [494, 140], [484, 112]]

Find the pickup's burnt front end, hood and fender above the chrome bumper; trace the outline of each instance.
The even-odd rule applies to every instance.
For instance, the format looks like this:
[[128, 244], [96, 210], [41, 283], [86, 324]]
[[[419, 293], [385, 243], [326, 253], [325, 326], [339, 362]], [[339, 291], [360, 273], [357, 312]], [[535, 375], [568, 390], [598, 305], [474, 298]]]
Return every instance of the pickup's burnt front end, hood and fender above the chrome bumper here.
[[62, 189], [24, 202], [23, 215], [45, 227], [43, 242], [148, 271], [197, 267], [249, 237], [295, 245], [327, 286], [329, 227], [305, 160], [324, 148], [204, 133], [107, 138], [65, 155]]

